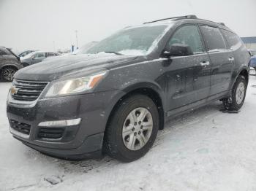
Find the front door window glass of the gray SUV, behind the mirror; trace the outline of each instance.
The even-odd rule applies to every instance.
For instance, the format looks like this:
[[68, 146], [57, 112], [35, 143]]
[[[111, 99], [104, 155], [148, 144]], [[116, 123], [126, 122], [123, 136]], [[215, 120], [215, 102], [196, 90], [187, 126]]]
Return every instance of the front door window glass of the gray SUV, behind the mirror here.
[[171, 47], [173, 44], [188, 45], [193, 53], [203, 52], [203, 42], [197, 26], [183, 26], [179, 28], [167, 45]]

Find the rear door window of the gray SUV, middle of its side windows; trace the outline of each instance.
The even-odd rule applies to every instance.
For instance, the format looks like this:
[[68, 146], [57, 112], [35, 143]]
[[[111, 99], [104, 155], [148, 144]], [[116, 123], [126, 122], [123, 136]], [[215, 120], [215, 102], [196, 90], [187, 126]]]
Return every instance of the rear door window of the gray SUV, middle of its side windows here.
[[206, 40], [208, 51], [226, 49], [225, 40], [219, 31], [219, 28], [211, 26], [200, 26], [203, 36]]

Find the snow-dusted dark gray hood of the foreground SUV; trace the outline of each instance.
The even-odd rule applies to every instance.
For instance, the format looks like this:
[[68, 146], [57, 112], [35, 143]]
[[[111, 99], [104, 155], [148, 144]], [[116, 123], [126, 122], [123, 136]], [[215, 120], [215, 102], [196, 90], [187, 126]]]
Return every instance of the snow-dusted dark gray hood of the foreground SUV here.
[[16, 79], [50, 82], [72, 74], [90, 74], [94, 71], [135, 60], [138, 56], [102, 53], [97, 55], [69, 55], [47, 58], [15, 73]]

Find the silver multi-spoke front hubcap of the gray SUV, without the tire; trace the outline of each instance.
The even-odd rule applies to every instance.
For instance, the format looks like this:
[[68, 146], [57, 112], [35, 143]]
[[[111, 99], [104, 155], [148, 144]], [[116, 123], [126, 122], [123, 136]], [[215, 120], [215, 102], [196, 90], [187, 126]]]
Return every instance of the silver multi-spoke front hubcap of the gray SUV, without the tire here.
[[123, 141], [130, 150], [138, 150], [145, 146], [151, 136], [153, 118], [148, 109], [138, 107], [127, 115], [123, 125]]

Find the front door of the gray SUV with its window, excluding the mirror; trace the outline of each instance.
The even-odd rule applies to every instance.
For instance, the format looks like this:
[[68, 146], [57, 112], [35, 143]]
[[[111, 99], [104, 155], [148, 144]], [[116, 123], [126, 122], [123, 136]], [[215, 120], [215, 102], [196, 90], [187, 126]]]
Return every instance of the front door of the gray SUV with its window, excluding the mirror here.
[[171, 63], [167, 71], [170, 87], [169, 109], [180, 108], [178, 111], [182, 111], [188, 104], [208, 97], [211, 67], [197, 25], [189, 24], [178, 28], [167, 46], [172, 44], [186, 44], [193, 52], [193, 55], [170, 58]]

